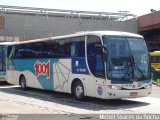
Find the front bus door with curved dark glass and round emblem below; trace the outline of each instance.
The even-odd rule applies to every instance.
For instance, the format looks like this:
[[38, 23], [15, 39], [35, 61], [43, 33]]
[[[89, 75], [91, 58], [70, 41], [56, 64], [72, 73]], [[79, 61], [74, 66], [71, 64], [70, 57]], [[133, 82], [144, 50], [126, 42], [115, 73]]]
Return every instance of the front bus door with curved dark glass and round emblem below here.
[[94, 86], [94, 95], [102, 98], [105, 95], [105, 67], [103, 61], [103, 49], [101, 40], [97, 36], [88, 36], [87, 39], [87, 62], [88, 67], [93, 75], [92, 80]]

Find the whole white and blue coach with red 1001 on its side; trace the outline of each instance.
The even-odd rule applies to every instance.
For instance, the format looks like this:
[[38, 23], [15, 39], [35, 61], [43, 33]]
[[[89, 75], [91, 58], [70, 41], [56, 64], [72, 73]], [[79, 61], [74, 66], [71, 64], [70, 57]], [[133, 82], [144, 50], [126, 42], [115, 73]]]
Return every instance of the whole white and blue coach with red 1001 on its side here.
[[151, 93], [149, 55], [142, 36], [91, 31], [31, 40], [8, 47], [7, 81], [101, 99]]

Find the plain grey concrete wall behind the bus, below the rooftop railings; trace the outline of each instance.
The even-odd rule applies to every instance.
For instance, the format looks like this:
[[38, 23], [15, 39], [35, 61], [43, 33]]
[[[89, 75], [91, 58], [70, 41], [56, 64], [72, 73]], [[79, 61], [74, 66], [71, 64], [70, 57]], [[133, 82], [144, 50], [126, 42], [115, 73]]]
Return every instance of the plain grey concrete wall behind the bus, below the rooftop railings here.
[[[1, 41], [59, 36], [78, 31], [115, 30], [138, 33], [136, 22], [23, 13], [1, 13]], [[11, 39], [7, 39], [11, 37]], [[4, 38], [4, 39], [3, 39]], [[13, 38], [13, 39], [12, 39]]]

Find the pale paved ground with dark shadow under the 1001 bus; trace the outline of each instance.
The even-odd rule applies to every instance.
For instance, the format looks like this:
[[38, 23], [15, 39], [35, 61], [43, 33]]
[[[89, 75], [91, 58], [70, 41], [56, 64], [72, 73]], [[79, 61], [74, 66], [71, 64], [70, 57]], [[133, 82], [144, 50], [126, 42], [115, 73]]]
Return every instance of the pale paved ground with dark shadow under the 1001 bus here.
[[[119, 100], [87, 98], [86, 101], [79, 102], [69, 94], [38, 89], [22, 91], [19, 86], [0, 84], [0, 119], [97, 120], [102, 117], [108, 118], [100, 116], [106, 114], [111, 115], [109, 118], [113, 119], [119, 117], [113, 115], [121, 114], [160, 115], [159, 91], [160, 87], [153, 85], [152, 94], [144, 98]], [[123, 117], [119, 119], [121, 118]]]

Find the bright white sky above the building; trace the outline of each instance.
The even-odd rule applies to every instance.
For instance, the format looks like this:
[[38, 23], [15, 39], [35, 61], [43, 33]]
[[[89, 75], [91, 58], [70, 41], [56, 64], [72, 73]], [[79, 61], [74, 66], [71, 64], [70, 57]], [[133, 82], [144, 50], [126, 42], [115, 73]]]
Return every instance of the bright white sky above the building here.
[[97, 12], [129, 11], [136, 16], [148, 14], [150, 9], [160, 10], [160, 0], [0, 0], [0, 5]]

